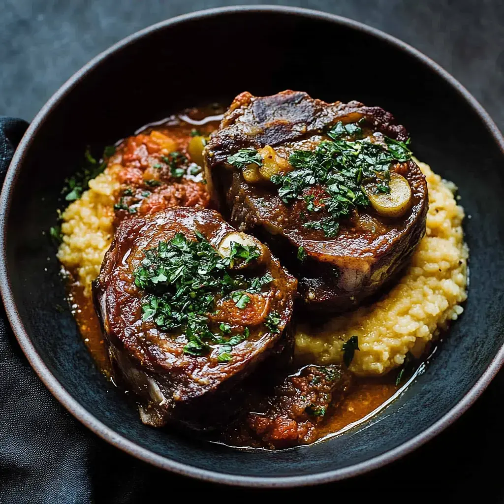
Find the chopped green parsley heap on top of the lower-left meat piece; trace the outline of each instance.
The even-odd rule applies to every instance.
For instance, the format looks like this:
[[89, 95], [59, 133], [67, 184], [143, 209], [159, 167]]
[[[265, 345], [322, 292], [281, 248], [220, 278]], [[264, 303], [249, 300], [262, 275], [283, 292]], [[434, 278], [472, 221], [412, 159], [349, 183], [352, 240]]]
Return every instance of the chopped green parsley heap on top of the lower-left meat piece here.
[[[245, 327], [242, 333], [231, 334], [231, 326], [220, 323], [214, 332], [208, 314], [226, 297], [245, 308], [250, 302], [248, 294], [260, 292], [273, 278], [267, 274], [249, 279], [228, 271], [233, 258], [221, 257], [202, 234], [196, 235], [196, 241], [191, 241], [177, 233], [170, 241], [160, 241], [156, 248], [144, 251], [145, 258], [134, 272], [136, 286], [144, 291], [142, 320], [185, 336], [184, 353], [190, 355], [205, 355], [211, 345], [222, 345], [218, 361], [229, 362], [232, 347], [245, 340], [249, 330]], [[248, 252], [248, 257], [254, 255], [252, 250]]]

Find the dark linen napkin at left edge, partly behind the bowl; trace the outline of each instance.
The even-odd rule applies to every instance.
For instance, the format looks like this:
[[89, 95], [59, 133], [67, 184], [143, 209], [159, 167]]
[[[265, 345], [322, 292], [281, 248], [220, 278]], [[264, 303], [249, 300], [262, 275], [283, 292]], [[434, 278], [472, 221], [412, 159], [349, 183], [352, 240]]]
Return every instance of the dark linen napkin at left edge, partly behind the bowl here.
[[[28, 123], [0, 116], [0, 182]], [[0, 502], [89, 501], [90, 439], [23, 355], [0, 307]]]

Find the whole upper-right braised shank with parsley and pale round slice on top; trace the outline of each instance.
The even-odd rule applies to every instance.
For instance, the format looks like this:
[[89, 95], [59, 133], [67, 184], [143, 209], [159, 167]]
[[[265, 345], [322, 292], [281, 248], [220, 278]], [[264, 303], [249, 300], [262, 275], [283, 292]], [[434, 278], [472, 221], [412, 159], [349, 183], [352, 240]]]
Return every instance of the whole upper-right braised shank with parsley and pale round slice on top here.
[[379, 107], [306, 93], [238, 95], [205, 147], [231, 223], [267, 241], [310, 308], [358, 306], [425, 232], [427, 186], [405, 129]]

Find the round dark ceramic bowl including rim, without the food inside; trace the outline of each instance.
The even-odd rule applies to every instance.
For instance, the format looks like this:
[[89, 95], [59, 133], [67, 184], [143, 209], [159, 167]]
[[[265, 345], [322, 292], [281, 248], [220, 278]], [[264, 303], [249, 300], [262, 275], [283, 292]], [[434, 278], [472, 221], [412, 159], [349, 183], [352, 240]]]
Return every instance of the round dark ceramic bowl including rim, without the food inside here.
[[[211, 43], [210, 43], [211, 41]], [[362, 426], [287, 452], [239, 451], [143, 425], [96, 368], [69, 310], [55, 250], [62, 183], [86, 145], [99, 151], [186, 106], [248, 90], [307, 91], [390, 110], [416, 155], [460, 188], [471, 286], [425, 372]], [[325, 482], [381, 466], [453, 422], [504, 359], [504, 139], [450, 75], [392, 37], [328, 14], [280, 7], [205, 11], [159, 23], [97, 56], [48, 101], [7, 174], [1, 289], [26, 356], [56, 398], [118, 448], [159, 467], [240, 485]]]

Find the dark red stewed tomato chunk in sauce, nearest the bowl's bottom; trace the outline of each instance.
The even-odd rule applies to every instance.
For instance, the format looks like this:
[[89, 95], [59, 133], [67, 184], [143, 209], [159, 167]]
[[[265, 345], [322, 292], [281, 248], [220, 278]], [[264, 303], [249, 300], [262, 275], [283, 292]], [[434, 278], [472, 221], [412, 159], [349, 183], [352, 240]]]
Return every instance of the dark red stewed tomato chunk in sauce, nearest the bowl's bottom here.
[[266, 396], [253, 397], [250, 413], [231, 425], [225, 442], [270, 449], [313, 443], [317, 427], [338, 407], [350, 382], [350, 373], [336, 365], [302, 367]]

